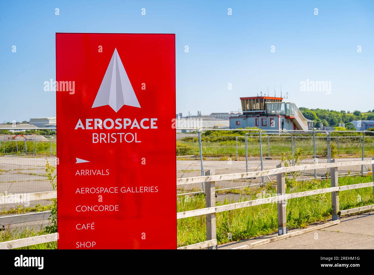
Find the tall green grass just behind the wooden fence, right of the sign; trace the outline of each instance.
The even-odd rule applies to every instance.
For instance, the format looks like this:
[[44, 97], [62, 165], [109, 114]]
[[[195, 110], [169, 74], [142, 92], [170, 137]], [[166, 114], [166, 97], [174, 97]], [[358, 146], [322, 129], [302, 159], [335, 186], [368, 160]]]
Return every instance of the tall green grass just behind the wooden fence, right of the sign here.
[[[349, 185], [372, 181], [372, 177], [343, 177], [339, 178], [339, 185]], [[330, 187], [329, 180], [304, 181], [293, 189], [287, 187], [286, 193], [302, 192], [313, 189]], [[273, 189], [259, 190], [267, 195], [275, 195]], [[252, 196], [252, 199], [255, 199]], [[242, 195], [240, 201], [249, 197]], [[229, 204], [234, 201], [225, 200], [216, 205]], [[340, 210], [373, 204], [373, 187], [342, 191], [339, 194]], [[181, 196], [177, 201], [177, 212], [205, 208], [204, 195], [194, 197]], [[303, 198], [289, 199], [287, 202], [287, 227], [303, 228], [308, 224], [331, 218], [331, 193], [318, 194]], [[219, 244], [240, 239], [248, 239], [258, 235], [276, 232], [278, 228], [277, 204], [264, 204], [254, 207], [217, 213], [217, 241]], [[206, 240], [205, 215], [189, 217], [177, 221], [178, 247], [202, 242]]]

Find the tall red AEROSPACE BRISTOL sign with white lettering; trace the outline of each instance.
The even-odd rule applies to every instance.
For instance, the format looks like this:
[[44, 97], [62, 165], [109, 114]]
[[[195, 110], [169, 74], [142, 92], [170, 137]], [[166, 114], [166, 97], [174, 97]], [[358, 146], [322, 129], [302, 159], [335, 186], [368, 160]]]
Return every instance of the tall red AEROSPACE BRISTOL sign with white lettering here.
[[174, 34], [56, 34], [59, 249], [177, 247]]

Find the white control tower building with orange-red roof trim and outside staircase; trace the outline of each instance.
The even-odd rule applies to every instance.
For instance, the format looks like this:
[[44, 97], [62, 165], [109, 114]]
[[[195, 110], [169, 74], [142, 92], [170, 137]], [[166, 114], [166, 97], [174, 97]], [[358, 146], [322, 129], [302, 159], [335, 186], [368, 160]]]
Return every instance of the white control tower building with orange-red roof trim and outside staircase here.
[[241, 97], [242, 109], [230, 112], [230, 129], [257, 127], [271, 130], [308, 130], [313, 121], [307, 120], [295, 103], [283, 102], [282, 97]]

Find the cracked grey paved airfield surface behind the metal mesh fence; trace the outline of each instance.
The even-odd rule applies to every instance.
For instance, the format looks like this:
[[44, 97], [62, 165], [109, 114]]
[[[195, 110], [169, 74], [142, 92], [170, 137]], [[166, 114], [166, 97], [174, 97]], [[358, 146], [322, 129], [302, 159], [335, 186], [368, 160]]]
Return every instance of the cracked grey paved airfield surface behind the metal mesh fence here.
[[[365, 158], [370, 160], [371, 158]], [[55, 158], [48, 157], [51, 164], [55, 163]], [[353, 161], [361, 160], [361, 158], [339, 158], [339, 161]], [[318, 163], [326, 163], [327, 159], [319, 158]], [[276, 168], [276, 165], [280, 163], [279, 159], [264, 159], [263, 168], [272, 169]], [[47, 175], [45, 172], [45, 157], [33, 157], [33, 156], [0, 156], [0, 194], [15, 194], [15, 193], [33, 193], [43, 192], [52, 190]], [[313, 159], [304, 159], [301, 164], [313, 164]], [[245, 160], [204, 160], [204, 170], [213, 170], [214, 174], [231, 174], [245, 172]], [[260, 159], [251, 158], [248, 161], [248, 171], [259, 171], [261, 170]], [[166, 169], [165, 169], [166, 171]], [[326, 169], [319, 169], [319, 174], [325, 174]], [[358, 172], [361, 171], [360, 166], [348, 166], [339, 168], [339, 173], [345, 172]], [[310, 172], [311, 171], [303, 171]], [[200, 160], [190, 159], [184, 160], [177, 158], [177, 177], [195, 177], [201, 175], [201, 164]], [[306, 176], [304, 178], [308, 178]], [[312, 177], [312, 175], [310, 175]], [[270, 176], [270, 179], [275, 180], [275, 177]], [[220, 181], [216, 183], [217, 189], [248, 186], [252, 184], [258, 184], [261, 178], [246, 179], [246, 180], [234, 180], [234, 181]], [[188, 190], [201, 190], [202, 185], [188, 184], [186, 186], [178, 186], [178, 192], [186, 192], [181, 189]], [[49, 201], [33, 201], [30, 202], [29, 206], [37, 204], [46, 205]], [[8, 204], [6, 208], [17, 207], [18, 204]]]

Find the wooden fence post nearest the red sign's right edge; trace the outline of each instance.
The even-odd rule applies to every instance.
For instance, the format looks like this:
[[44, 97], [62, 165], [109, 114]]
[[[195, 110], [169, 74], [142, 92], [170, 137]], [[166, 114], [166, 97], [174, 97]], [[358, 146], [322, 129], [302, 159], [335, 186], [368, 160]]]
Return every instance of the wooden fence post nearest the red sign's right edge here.
[[[205, 172], [206, 176], [214, 175], [214, 169]], [[215, 207], [215, 181], [205, 182], [205, 206]], [[206, 214], [206, 240], [217, 239], [217, 224], [215, 213]], [[208, 249], [218, 249], [217, 245]]]

